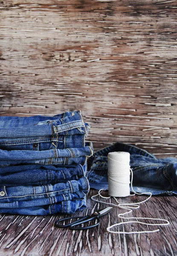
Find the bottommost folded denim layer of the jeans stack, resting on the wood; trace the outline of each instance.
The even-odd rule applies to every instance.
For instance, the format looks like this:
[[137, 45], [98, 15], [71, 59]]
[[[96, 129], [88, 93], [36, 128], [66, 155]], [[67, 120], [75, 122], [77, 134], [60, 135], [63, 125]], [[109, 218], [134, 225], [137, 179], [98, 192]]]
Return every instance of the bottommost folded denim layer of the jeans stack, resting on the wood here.
[[54, 213], [74, 213], [84, 210], [87, 207], [86, 198], [80, 200], [62, 201], [61, 203], [44, 206], [23, 207], [23, 208], [0, 208], [0, 213], [21, 214], [21, 215], [49, 215]]

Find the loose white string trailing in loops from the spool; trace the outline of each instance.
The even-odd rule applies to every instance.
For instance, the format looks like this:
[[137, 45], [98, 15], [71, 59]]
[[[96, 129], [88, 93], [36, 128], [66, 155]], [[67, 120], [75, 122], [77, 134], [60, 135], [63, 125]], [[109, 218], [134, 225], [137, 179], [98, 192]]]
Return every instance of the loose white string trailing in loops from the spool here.
[[[122, 162], [119, 162], [120, 164], [122, 164]], [[131, 166], [129, 166], [130, 168]], [[125, 231], [112, 231], [110, 230], [111, 228], [113, 227], [116, 227], [116, 226], [120, 226], [120, 225], [124, 225], [124, 224], [129, 224], [129, 223], [139, 223], [139, 224], [144, 224], [146, 226], [166, 226], [166, 225], [169, 225], [170, 222], [168, 220], [165, 220], [165, 219], [162, 219], [162, 218], [146, 218], [146, 217], [123, 217], [123, 215], [126, 215], [128, 213], [131, 213], [132, 212], [132, 209], [138, 209], [140, 206], [139, 204], [142, 204], [142, 203], [145, 203], [146, 201], [148, 201], [150, 198], [151, 198], [151, 195], [152, 193], [151, 192], [145, 192], [145, 193], [137, 193], [134, 191], [133, 189], [133, 186], [132, 186], [132, 183], [133, 183], [133, 171], [132, 169], [130, 168], [131, 170], [131, 189], [132, 191], [134, 192], [134, 194], [132, 195], [149, 195], [148, 198], [146, 198], [145, 200], [141, 201], [141, 202], [137, 202], [137, 203], [120, 203], [117, 201], [117, 199], [115, 197], [113, 197], [115, 199], [115, 201], [117, 202], [117, 204], [113, 204], [113, 203], [107, 203], [107, 202], [103, 202], [103, 201], [100, 201], [100, 200], [97, 200], [97, 199], [94, 199], [96, 196], [100, 196], [101, 198], [105, 198], [105, 199], [109, 199], [111, 198], [111, 196], [109, 197], [104, 197], [101, 195], [101, 192], [104, 190], [104, 189], [100, 189], [98, 194], [97, 195], [93, 195], [91, 197], [91, 199], [93, 201], [96, 201], [96, 202], [99, 202], [99, 203], [102, 203], [102, 204], [108, 204], [108, 205], [112, 205], [112, 206], [115, 206], [115, 207], [119, 207], [119, 208], [122, 208], [122, 209], [125, 209], [125, 210], [128, 210], [127, 212], [124, 212], [124, 213], [119, 213], [118, 214], [118, 218], [121, 218], [121, 219], [136, 219], [137, 221], [124, 221], [124, 222], [119, 222], [119, 223], [116, 223], [116, 224], [113, 224], [112, 226], [110, 227], [107, 227], [107, 231], [110, 232], [110, 233], [114, 233], [114, 234], [119, 234], [119, 239], [120, 239], [120, 234], [140, 234], [140, 233], [155, 233], [155, 232], [158, 232], [160, 231], [160, 229], [157, 229], [157, 230], [142, 230], [142, 231], [131, 231], [131, 232], [125, 232]], [[132, 196], [131, 195], [131, 196]], [[166, 223], [162, 223], [162, 224], [154, 224], [154, 223], [145, 223], [145, 222], [142, 222], [142, 221], [138, 221], [138, 220], [154, 220], [154, 221], [165, 221]], [[120, 241], [120, 240], [119, 240]]]

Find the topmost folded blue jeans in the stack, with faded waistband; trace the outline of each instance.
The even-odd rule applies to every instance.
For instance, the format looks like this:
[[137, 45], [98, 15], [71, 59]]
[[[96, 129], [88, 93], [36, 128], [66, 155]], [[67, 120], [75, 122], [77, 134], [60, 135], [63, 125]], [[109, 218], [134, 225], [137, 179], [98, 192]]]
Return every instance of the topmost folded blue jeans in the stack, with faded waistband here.
[[66, 112], [56, 116], [0, 116], [0, 138], [87, 134], [81, 111]]

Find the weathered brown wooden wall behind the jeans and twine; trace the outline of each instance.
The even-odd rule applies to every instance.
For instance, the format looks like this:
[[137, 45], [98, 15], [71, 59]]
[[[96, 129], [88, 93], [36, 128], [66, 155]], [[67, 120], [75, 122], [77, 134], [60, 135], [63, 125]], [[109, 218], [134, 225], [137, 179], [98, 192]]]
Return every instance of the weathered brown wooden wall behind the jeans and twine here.
[[175, 155], [176, 1], [0, 7], [2, 115], [81, 109], [95, 149], [121, 140]]

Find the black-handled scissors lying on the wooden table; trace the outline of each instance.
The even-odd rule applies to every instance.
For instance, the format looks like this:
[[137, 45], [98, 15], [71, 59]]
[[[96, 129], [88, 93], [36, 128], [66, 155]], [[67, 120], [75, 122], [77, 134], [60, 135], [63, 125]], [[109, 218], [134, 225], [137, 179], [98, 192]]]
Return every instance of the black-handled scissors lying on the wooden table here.
[[[71, 230], [84, 230], [84, 229], [89, 229], [89, 228], [92, 228], [92, 227], [96, 227], [99, 225], [100, 223], [100, 220], [99, 218], [104, 216], [105, 214], [107, 214], [108, 212], [112, 211], [113, 207], [107, 207], [103, 210], [101, 210], [100, 212], [93, 212], [93, 214], [90, 214], [90, 215], [86, 215], [84, 217], [69, 217], [69, 218], [62, 218], [61, 220], [59, 221], [55, 221], [55, 227], [69, 227], [69, 229]], [[71, 222], [70, 224], [66, 224], [66, 225], [60, 225], [59, 222], [60, 221], [65, 221], [65, 220], [70, 220], [72, 218], [79, 218], [79, 220], [77, 221], [73, 221]], [[96, 219], [97, 220], [97, 223], [92, 225], [92, 226], [87, 226], [87, 227], [75, 227], [79, 224], [83, 224], [83, 223], [86, 223], [86, 222], [89, 222], [89, 221], [92, 221]]]

